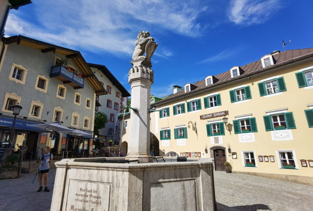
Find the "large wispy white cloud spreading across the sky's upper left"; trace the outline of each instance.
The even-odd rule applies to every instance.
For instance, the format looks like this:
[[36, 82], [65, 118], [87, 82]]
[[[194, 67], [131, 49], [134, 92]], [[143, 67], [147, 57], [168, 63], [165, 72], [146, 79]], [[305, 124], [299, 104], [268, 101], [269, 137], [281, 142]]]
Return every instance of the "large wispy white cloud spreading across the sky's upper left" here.
[[[34, 10], [31, 21], [27, 14], [11, 11], [6, 35], [21, 34], [67, 48], [118, 56], [132, 54], [140, 30], [154, 30], [153, 37], [164, 30], [199, 36], [202, 27], [196, 19], [206, 10], [198, 3], [166, 0], [46, 0], [30, 6]], [[172, 52], [159, 55], [169, 57]]]

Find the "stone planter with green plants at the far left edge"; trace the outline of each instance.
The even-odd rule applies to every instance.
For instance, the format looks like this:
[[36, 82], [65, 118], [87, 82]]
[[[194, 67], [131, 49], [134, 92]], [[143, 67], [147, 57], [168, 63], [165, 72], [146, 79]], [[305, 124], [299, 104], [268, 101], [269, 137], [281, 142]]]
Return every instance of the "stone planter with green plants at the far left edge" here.
[[19, 154], [9, 155], [0, 166], [0, 179], [12, 179], [18, 177]]

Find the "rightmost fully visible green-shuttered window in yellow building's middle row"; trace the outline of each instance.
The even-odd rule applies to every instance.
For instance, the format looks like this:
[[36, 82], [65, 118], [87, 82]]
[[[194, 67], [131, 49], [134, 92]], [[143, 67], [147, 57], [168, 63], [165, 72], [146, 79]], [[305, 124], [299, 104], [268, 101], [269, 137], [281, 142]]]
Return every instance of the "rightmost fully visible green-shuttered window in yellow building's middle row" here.
[[295, 129], [295, 120], [292, 112], [263, 116], [265, 130]]

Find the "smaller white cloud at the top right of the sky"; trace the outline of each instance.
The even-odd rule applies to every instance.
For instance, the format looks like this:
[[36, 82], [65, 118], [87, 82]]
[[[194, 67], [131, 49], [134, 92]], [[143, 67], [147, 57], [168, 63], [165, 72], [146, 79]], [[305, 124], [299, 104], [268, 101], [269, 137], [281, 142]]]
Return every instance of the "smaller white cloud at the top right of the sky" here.
[[237, 25], [249, 26], [266, 22], [280, 8], [279, 0], [233, 0], [228, 18]]

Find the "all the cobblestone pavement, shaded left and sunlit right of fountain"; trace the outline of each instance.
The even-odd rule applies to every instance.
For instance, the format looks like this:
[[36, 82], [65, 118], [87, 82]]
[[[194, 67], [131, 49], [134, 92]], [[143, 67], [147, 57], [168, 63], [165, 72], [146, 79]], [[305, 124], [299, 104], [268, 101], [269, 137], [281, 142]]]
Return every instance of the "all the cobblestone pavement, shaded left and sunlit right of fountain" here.
[[[49, 172], [51, 192], [37, 192], [37, 178], [32, 184], [34, 173], [0, 180], [0, 210], [50, 210], [55, 172]], [[218, 211], [313, 210], [312, 186], [219, 171], [214, 172], [214, 180]]]

